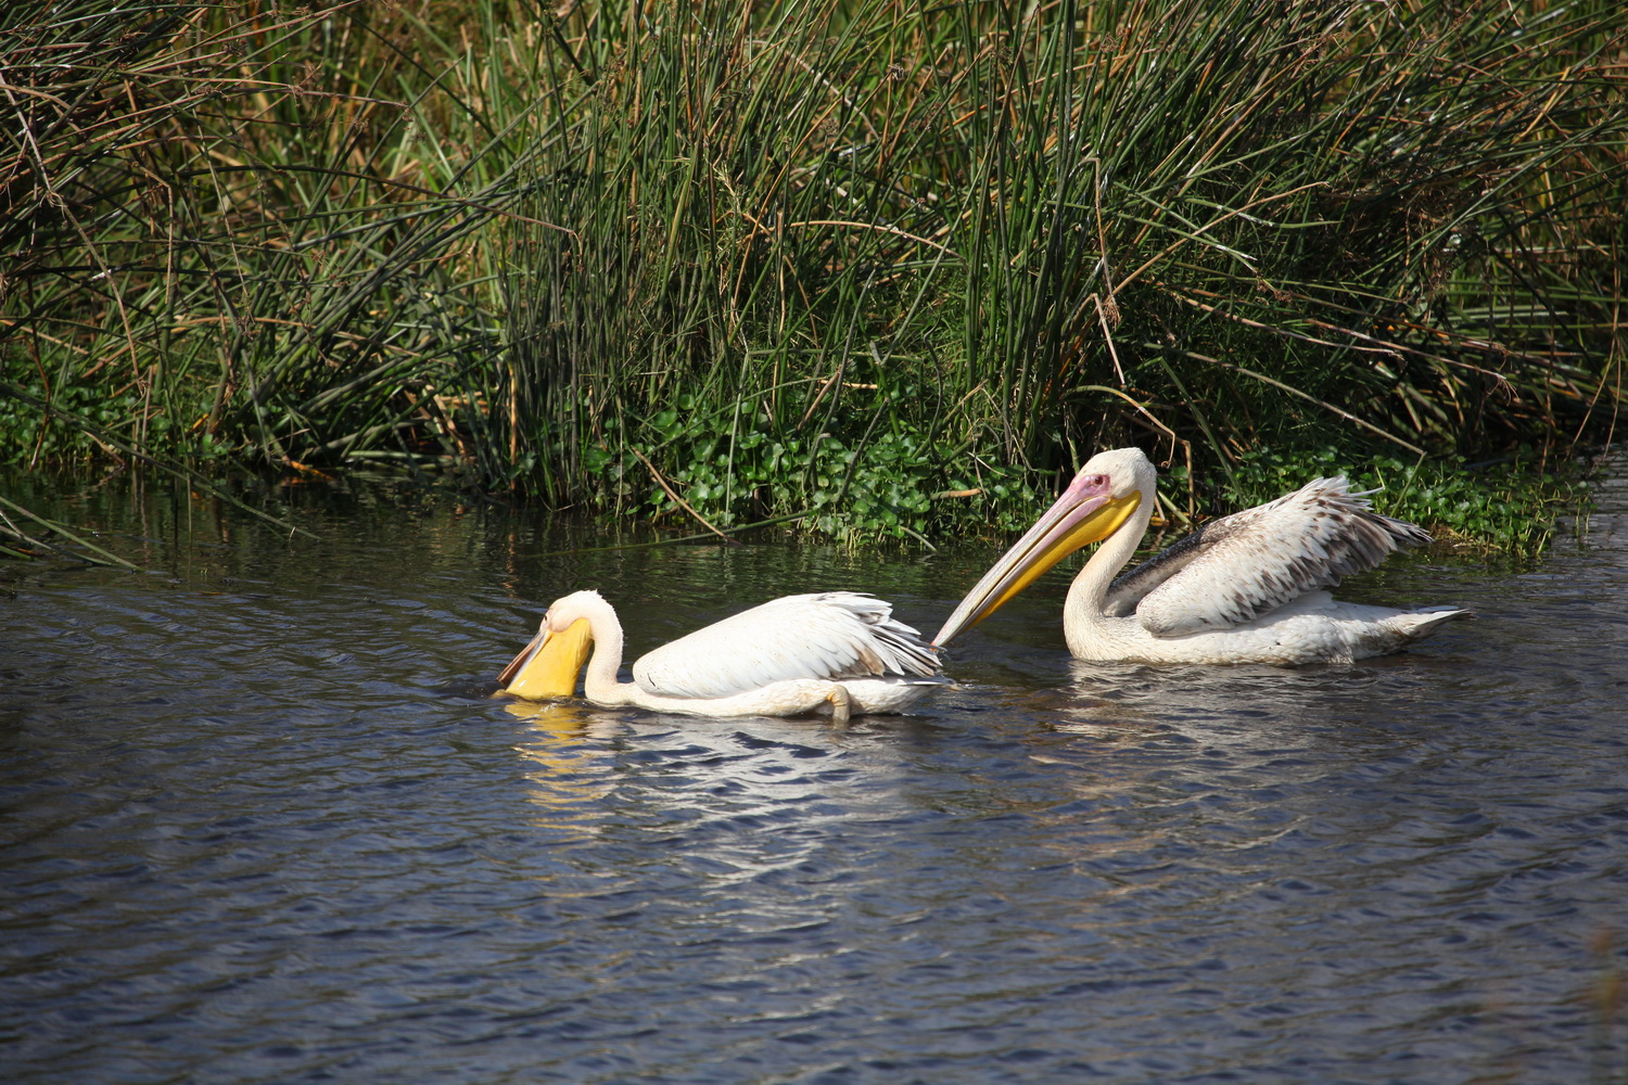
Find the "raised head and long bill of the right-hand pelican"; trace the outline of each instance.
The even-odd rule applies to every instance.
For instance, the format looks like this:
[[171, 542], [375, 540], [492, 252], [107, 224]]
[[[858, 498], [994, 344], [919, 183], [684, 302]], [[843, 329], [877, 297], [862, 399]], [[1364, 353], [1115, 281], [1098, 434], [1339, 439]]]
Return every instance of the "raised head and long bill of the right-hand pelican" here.
[[1141, 449], [1097, 452], [1034, 527], [990, 566], [933, 638], [947, 644], [1004, 607], [1042, 573], [1086, 543], [1107, 538], [1144, 501], [1153, 501], [1156, 473]]

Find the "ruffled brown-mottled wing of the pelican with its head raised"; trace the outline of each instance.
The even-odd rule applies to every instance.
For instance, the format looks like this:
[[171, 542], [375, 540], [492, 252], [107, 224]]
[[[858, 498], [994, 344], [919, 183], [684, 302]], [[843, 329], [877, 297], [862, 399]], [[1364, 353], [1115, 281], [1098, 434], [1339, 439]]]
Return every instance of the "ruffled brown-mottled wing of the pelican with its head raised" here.
[[1120, 576], [1105, 610], [1135, 613], [1154, 636], [1226, 630], [1426, 542], [1421, 527], [1374, 512], [1345, 478], [1317, 478], [1213, 521]]

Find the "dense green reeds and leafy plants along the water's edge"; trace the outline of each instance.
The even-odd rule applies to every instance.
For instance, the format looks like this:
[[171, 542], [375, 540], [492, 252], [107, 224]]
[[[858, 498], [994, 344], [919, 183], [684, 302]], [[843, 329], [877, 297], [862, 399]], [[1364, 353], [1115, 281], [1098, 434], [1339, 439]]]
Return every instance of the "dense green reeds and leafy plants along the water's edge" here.
[[1350, 472], [1530, 548], [1623, 402], [1615, 0], [67, 0], [0, 65], [15, 465], [930, 542], [1135, 442], [1175, 522]]

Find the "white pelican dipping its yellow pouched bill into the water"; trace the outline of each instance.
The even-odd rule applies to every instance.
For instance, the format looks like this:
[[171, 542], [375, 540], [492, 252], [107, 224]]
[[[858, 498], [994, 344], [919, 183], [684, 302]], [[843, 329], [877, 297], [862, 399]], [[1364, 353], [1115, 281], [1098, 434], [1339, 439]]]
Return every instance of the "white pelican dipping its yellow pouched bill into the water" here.
[[[786, 595], [715, 621], [633, 664], [619, 682], [622, 623], [599, 592], [573, 592], [542, 615], [531, 644], [498, 682], [523, 698], [571, 696], [576, 675], [594, 704], [695, 716], [899, 712], [946, 685], [938, 649], [858, 592]], [[593, 659], [588, 657], [593, 643]]]

